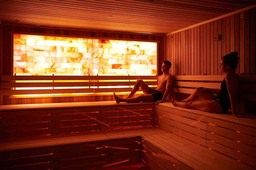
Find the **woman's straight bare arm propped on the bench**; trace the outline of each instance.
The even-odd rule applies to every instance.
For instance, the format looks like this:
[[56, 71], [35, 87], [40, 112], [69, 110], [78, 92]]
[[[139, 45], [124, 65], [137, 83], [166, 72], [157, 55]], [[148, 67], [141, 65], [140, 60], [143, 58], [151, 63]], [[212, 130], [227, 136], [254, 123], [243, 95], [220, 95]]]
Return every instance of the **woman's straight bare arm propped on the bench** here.
[[[226, 74], [226, 82], [228, 87], [228, 94], [230, 98], [233, 116], [238, 117], [236, 113], [236, 93], [238, 91], [238, 78], [235, 73]], [[241, 116], [239, 116], [241, 117]]]

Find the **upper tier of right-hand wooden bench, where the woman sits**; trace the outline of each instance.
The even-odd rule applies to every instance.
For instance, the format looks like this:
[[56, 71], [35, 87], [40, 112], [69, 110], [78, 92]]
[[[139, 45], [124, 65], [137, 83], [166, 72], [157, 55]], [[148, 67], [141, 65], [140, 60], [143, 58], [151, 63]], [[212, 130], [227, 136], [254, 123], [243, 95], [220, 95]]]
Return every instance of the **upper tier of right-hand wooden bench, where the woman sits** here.
[[238, 119], [175, 107], [156, 106], [155, 125], [256, 168], [256, 116]]

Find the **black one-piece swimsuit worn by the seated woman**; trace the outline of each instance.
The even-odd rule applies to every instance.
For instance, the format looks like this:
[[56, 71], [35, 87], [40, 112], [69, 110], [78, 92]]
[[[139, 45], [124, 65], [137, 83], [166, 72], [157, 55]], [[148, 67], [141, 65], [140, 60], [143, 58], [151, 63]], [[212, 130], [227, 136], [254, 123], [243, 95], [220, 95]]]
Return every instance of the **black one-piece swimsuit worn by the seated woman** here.
[[[237, 78], [239, 76], [237, 75]], [[228, 112], [228, 109], [231, 106], [229, 94], [228, 94], [228, 87], [227, 87], [227, 82], [226, 82], [226, 77], [223, 79], [220, 85], [220, 94], [218, 94], [213, 100], [218, 102], [221, 106], [222, 113]], [[239, 82], [239, 81], [238, 81]]]

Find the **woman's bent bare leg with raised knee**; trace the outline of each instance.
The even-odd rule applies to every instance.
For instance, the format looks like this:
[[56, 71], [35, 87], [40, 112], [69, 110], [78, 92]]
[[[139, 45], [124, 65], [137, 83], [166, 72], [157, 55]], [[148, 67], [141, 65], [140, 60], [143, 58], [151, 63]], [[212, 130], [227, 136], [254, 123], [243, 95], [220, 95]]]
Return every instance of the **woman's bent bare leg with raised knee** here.
[[194, 93], [192, 93], [187, 99], [182, 100], [182, 102], [192, 102], [195, 101], [198, 97], [200, 97], [202, 100], [213, 100], [215, 98], [214, 94], [201, 90], [202, 89], [200, 88], [196, 88]]

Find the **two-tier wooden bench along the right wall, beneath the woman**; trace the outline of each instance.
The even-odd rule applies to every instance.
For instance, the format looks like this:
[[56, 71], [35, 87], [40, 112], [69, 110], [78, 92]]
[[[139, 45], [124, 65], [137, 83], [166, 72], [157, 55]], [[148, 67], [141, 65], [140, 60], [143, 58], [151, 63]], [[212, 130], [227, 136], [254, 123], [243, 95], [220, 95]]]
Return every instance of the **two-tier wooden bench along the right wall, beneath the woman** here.
[[142, 163], [149, 169], [255, 169], [256, 115], [244, 119], [156, 106], [155, 126], [170, 133], [142, 136]]

